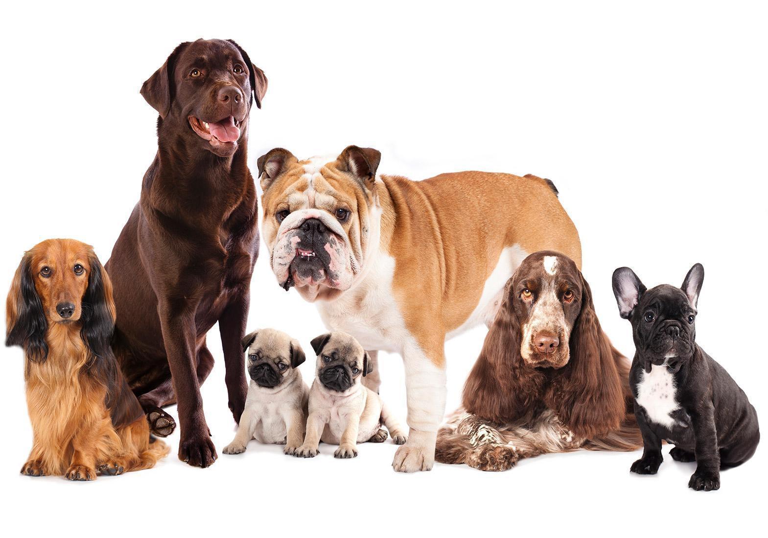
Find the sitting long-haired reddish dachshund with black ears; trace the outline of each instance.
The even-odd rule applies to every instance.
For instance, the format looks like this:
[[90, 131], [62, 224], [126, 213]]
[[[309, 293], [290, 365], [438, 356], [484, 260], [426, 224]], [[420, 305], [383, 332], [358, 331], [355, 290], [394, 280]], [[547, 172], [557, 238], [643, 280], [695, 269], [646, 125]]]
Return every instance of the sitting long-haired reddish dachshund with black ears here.
[[34, 433], [23, 474], [94, 480], [154, 467], [168, 453], [151, 441], [112, 354], [112, 284], [91, 247], [35, 245], [18, 265], [6, 312], [5, 345], [24, 348]]

